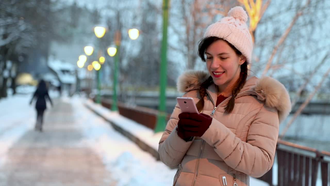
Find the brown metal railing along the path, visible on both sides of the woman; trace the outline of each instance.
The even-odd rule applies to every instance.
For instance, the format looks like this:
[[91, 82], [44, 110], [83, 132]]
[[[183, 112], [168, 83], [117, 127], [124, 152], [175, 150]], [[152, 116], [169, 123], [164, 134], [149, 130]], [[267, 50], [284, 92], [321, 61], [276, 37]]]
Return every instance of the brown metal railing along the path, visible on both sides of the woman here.
[[[111, 100], [102, 100], [102, 105], [111, 108]], [[151, 129], [156, 125], [158, 111], [145, 107], [131, 108], [118, 103], [119, 114]], [[168, 118], [170, 115], [168, 115]], [[278, 186], [315, 186], [320, 165], [322, 186], [330, 184], [330, 153], [278, 140], [276, 148]], [[274, 166], [258, 178], [273, 185]]]

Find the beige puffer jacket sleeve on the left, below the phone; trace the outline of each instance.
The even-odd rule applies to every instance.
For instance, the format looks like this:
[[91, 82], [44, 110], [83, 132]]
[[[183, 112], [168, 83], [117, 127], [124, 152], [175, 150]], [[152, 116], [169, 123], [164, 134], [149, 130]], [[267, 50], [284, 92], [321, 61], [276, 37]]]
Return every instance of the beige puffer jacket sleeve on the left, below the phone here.
[[192, 141], [184, 141], [177, 134], [176, 128], [180, 113], [181, 109], [177, 104], [170, 120], [167, 122], [166, 129], [159, 141], [158, 146], [160, 161], [171, 168], [177, 167], [181, 163], [184, 155], [192, 143]]

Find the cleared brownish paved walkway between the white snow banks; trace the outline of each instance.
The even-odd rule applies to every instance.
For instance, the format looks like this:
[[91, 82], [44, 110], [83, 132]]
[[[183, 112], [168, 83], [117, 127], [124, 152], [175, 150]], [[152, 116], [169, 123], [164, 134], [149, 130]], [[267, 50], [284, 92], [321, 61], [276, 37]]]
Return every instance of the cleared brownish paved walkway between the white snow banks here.
[[[46, 112], [42, 133], [33, 130], [34, 119], [31, 118], [35, 117], [35, 113], [29, 118], [7, 123], [10, 124], [7, 131], [27, 124], [29, 129], [6, 153], [6, 162], [0, 167], [0, 185], [114, 185], [106, 179], [110, 172], [102, 159], [81, 143], [84, 135], [75, 121], [72, 105], [54, 102], [54, 108]], [[1, 130], [0, 136], [6, 130]]]

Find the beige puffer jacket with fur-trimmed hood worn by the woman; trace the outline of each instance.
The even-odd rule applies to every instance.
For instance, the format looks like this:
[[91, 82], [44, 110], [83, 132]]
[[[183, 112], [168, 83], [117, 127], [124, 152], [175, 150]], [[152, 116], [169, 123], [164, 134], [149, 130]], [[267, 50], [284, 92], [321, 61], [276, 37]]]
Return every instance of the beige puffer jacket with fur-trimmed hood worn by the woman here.
[[[208, 72], [188, 71], [179, 77], [178, 89], [197, 103], [199, 86], [208, 76]], [[260, 177], [273, 165], [279, 123], [291, 111], [289, 95], [273, 78], [250, 77], [233, 112], [224, 114], [230, 98], [215, 107], [214, 84], [207, 93], [203, 113], [213, 117], [209, 129], [201, 138], [182, 140], [176, 132], [181, 113], [176, 105], [159, 142], [160, 160], [179, 166], [175, 186], [247, 186], [249, 176]]]

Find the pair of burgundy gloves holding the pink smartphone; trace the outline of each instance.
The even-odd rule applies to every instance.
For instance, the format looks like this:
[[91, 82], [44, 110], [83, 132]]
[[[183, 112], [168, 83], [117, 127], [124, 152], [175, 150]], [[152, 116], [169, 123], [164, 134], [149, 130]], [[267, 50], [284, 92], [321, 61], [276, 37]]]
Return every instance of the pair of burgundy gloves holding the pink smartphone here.
[[179, 114], [178, 135], [182, 139], [191, 136], [201, 137], [210, 127], [212, 117], [206, 114], [181, 113]]

